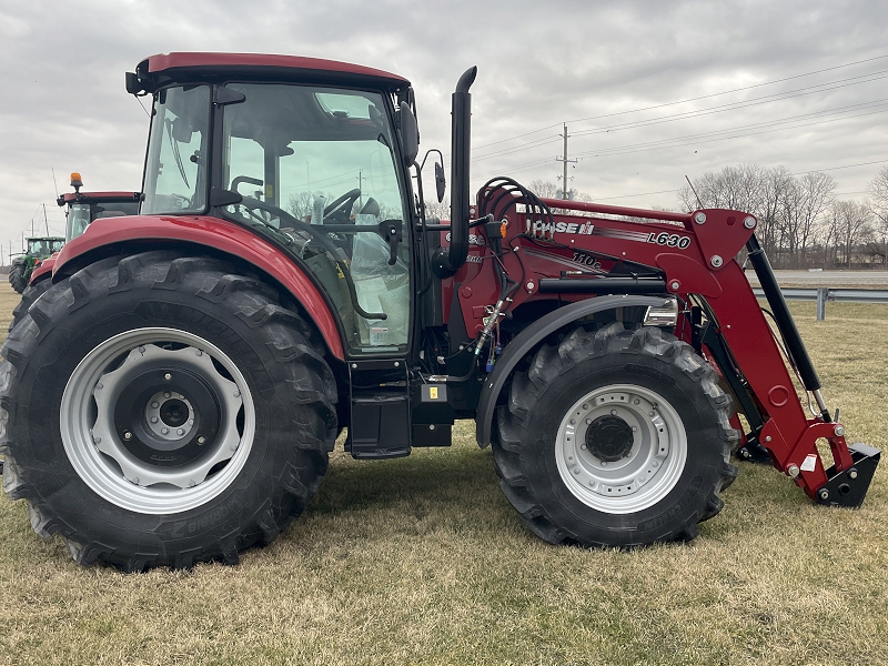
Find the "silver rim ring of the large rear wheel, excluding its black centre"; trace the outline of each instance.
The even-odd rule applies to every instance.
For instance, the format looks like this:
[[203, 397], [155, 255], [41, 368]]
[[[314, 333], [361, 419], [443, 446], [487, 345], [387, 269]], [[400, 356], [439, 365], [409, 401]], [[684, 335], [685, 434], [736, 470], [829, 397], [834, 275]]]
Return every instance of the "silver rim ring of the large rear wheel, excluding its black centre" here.
[[[171, 446], [178, 440], [199, 445], [194, 406], [174, 390], [174, 373], [199, 377], [215, 400], [215, 434], [204, 437], [205, 448], [188, 464], [162, 466], [140, 460], [124, 441], [131, 433], [121, 436], [114, 424], [121, 394], [149, 366], [168, 367], [173, 382], [168, 397], [154, 393], [143, 408], [145, 425]], [[181, 427], [161, 434], [151, 420], [163, 400], [178, 401], [188, 414]], [[243, 468], [255, 434], [252, 395], [231, 359], [198, 335], [160, 327], [121, 333], [87, 354], [68, 380], [59, 421], [64, 451], [83, 482], [112, 504], [143, 514], [180, 513], [219, 495]]]

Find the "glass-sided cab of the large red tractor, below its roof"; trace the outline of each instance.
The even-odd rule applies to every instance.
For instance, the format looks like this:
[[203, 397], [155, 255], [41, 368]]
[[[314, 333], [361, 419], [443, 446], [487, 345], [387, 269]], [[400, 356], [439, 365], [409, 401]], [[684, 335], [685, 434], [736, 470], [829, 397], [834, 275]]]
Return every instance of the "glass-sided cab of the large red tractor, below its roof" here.
[[322, 287], [350, 354], [404, 354], [412, 193], [395, 124], [406, 83], [180, 77], [155, 93], [142, 214], [209, 210], [268, 236]]

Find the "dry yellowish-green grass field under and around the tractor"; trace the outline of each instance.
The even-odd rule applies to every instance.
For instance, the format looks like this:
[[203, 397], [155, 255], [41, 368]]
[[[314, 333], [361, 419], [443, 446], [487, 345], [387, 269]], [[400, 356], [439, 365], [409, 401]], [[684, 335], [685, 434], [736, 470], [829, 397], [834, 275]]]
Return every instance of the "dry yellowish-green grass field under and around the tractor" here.
[[[0, 290], [6, 331], [18, 296]], [[888, 307], [794, 303], [849, 440], [888, 447]], [[6, 317], [6, 320], [3, 320]], [[885, 664], [888, 471], [814, 505], [741, 464], [689, 545], [553, 547], [472, 424], [448, 450], [340, 450], [309, 511], [236, 567], [81, 568], [0, 496], [0, 664]]]

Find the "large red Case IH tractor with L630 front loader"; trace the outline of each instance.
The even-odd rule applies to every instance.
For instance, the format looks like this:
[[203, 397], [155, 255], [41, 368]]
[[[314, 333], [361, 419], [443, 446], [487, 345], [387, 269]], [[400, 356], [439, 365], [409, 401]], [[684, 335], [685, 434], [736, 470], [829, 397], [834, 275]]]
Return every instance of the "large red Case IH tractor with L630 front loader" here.
[[455, 418], [553, 544], [693, 539], [737, 447], [860, 505], [880, 452], [827, 410], [756, 219], [507, 178], [470, 205], [475, 71], [453, 94], [450, 222], [425, 215], [401, 77], [220, 53], [127, 75], [153, 98], [141, 214], [65, 245], [2, 350], [4, 488], [38, 534], [125, 571], [235, 563], [305, 508], [342, 428], [355, 458], [390, 458], [447, 446]]

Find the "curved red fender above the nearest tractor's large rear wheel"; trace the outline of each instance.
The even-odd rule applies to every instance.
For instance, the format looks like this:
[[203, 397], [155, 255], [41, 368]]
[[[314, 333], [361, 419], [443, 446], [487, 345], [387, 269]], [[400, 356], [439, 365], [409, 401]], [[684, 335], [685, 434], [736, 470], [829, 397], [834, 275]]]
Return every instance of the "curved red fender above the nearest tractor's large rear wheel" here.
[[336, 319], [323, 292], [309, 276], [311, 272], [271, 242], [219, 218], [138, 215], [95, 220], [83, 235], [62, 248], [52, 268], [53, 281], [74, 273], [98, 258], [115, 254], [127, 245], [151, 249], [152, 242], [163, 243], [163, 246], [171, 243], [202, 245], [252, 264], [302, 304], [330, 353], [336, 359], [345, 359]]

